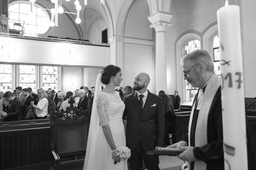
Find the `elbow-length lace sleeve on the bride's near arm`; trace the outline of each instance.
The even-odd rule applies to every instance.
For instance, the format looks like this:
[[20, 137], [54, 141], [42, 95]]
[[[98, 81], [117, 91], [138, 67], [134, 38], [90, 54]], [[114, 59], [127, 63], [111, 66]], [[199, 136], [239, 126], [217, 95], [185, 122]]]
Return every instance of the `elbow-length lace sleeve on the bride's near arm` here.
[[108, 100], [106, 95], [99, 93], [97, 100], [97, 110], [101, 126], [108, 125]]

